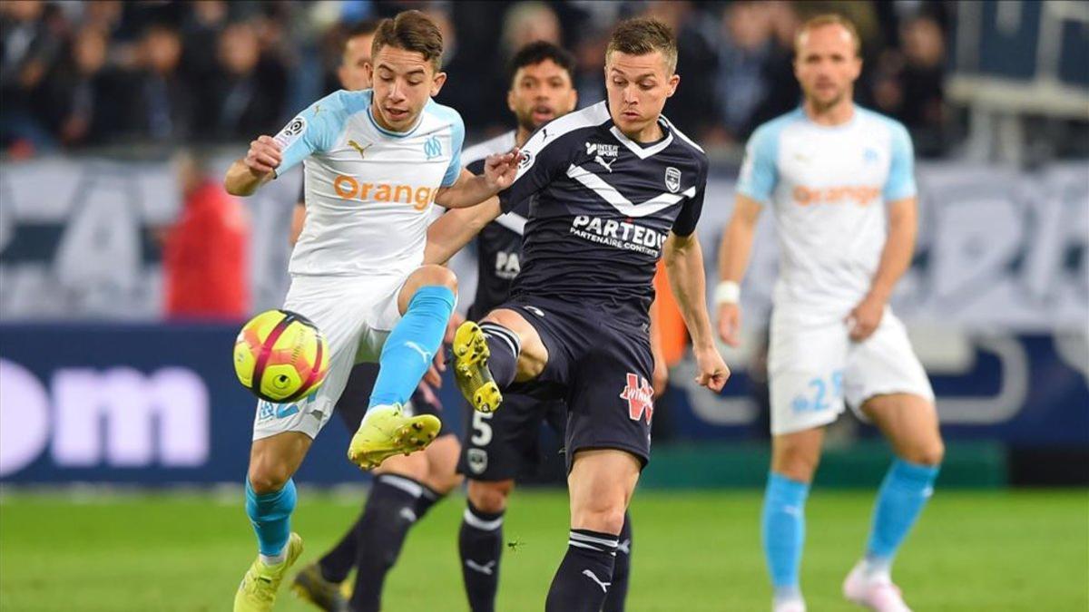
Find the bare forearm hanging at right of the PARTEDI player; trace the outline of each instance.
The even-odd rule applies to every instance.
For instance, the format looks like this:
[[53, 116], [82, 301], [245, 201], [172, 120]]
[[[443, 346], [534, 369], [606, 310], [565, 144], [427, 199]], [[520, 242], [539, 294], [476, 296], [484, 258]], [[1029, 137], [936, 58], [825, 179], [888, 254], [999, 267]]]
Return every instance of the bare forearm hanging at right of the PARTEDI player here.
[[665, 241], [663, 258], [670, 289], [673, 290], [685, 327], [692, 335], [693, 352], [699, 366], [696, 382], [713, 391], [721, 391], [730, 378], [730, 368], [714, 345], [711, 320], [707, 314], [703, 252], [695, 232], [687, 236], [671, 232]]

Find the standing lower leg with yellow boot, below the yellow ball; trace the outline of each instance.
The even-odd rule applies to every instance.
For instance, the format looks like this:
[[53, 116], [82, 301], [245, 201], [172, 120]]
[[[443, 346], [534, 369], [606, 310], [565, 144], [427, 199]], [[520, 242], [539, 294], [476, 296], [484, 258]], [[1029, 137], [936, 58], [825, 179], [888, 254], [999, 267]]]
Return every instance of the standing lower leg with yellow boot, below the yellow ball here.
[[303, 552], [303, 540], [291, 533], [298, 469], [313, 439], [284, 431], [255, 440], [246, 475], [246, 514], [257, 534], [260, 553], [249, 566], [234, 597], [235, 612], [271, 610], [287, 568]]

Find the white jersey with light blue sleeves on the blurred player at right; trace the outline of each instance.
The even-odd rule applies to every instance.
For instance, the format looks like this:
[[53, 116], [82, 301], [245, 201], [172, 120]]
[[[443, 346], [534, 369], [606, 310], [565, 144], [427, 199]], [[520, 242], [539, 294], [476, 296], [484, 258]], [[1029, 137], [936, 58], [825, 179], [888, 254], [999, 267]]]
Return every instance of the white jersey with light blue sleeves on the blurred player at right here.
[[842, 125], [798, 109], [757, 128], [737, 191], [772, 206], [776, 309], [827, 319], [858, 304], [884, 248], [885, 205], [916, 195], [913, 166], [907, 130], [857, 106]]

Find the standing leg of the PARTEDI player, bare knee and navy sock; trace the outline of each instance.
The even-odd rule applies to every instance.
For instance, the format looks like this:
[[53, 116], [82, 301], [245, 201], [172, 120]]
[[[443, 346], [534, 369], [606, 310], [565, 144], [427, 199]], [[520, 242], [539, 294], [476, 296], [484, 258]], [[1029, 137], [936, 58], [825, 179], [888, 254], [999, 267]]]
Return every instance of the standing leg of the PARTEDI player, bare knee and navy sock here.
[[549, 588], [548, 612], [598, 612], [612, 586], [617, 537], [639, 480], [639, 460], [626, 451], [575, 454], [567, 488], [571, 535], [567, 553]]

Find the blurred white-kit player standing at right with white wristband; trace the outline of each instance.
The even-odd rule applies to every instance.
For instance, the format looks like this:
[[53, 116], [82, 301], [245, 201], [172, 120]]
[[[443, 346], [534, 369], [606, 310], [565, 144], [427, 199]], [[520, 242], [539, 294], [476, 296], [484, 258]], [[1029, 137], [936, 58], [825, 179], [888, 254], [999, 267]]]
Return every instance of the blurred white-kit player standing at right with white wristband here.
[[810, 20], [795, 50], [805, 103], [749, 139], [720, 250], [719, 332], [737, 344], [739, 282], [757, 218], [769, 205], [780, 245], [768, 355], [772, 461], [762, 512], [773, 609], [806, 609], [798, 583], [805, 500], [823, 428], [848, 404], [880, 428], [896, 458], [844, 595], [872, 610], [904, 612], [891, 565], [933, 490], [943, 453], [930, 382], [888, 306], [915, 242], [911, 142], [903, 125], [852, 101], [861, 60], [848, 21]]

